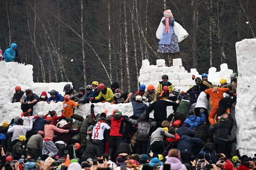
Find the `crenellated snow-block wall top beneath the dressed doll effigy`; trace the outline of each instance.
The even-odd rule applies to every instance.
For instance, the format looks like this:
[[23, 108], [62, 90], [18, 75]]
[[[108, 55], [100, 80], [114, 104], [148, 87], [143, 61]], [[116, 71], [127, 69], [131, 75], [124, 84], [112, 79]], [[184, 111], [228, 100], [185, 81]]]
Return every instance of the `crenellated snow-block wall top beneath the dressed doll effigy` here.
[[[150, 65], [148, 60], [142, 61], [142, 66], [140, 69], [139, 82], [145, 84], [146, 87], [149, 84], [153, 84], [155, 88], [159, 81], [162, 81], [162, 75], [168, 75], [169, 82], [174, 86], [179, 86], [182, 91], [189, 89], [191, 85], [195, 85], [195, 81], [192, 80], [192, 75], [195, 77], [200, 77], [196, 69], [190, 69], [190, 73], [184, 69], [182, 66], [182, 59], [173, 59], [173, 66], [166, 67], [165, 60], [156, 60], [156, 65]], [[226, 78], [227, 82], [230, 82], [230, 75], [233, 73], [232, 69], [228, 69], [228, 64], [223, 63], [220, 65], [221, 70], [217, 71], [215, 67], [211, 67], [208, 71], [208, 80], [213, 84], [219, 84], [221, 78]]]

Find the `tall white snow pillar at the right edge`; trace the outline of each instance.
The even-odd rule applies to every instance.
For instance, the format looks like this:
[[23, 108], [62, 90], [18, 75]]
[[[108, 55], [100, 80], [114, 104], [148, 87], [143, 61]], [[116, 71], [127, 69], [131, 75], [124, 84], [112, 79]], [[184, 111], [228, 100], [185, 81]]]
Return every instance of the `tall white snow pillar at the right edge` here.
[[246, 154], [253, 157], [256, 153], [256, 39], [244, 39], [237, 42], [236, 59], [238, 70], [237, 149], [240, 155]]

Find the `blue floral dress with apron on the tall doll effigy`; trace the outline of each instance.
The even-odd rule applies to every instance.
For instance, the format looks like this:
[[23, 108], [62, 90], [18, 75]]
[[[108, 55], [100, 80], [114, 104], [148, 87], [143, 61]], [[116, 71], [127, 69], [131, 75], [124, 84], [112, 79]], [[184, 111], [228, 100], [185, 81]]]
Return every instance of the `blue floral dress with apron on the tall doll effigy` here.
[[[159, 47], [157, 52], [175, 53], [180, 51], [178, 38], [173, 30], [174, 20], [174, 18], [169, 18], [170, 32], [166, 32], [166, 28], [164, 28], [162, 39], [158, 42]], [[165, 25], [165, 19], [162, 20], [162, 23]]]

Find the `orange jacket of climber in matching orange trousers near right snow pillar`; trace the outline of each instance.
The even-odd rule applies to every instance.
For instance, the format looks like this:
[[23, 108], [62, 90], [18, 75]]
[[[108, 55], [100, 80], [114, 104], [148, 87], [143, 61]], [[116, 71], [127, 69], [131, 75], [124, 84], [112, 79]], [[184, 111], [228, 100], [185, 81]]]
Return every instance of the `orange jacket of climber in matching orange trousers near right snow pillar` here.
[[219, 107], [219, 101], [223, 98], [223, 93], [228, 92], [229, 88], [217, 88], [216, 91], [213, 88], [209, 88], [204, 91], [205, 94], [209, 94], [211, 98], [211, 105]]

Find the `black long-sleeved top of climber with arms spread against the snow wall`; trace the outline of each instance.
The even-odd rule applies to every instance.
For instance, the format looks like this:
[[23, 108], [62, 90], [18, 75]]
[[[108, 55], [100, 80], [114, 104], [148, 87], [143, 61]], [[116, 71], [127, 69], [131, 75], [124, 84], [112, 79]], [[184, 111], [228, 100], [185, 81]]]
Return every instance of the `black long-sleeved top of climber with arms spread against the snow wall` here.
[[167, 118], [166, 107], [168, 106], [178, 106], [175, 102], [159, 100], [155, 101], [151, 105], [149, 105], [148, 110], [146, 112], [146, 118], [149, 118], [149, 113], [154, 110], [154, 119], [156, 122], [162, 122]]

